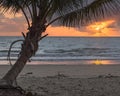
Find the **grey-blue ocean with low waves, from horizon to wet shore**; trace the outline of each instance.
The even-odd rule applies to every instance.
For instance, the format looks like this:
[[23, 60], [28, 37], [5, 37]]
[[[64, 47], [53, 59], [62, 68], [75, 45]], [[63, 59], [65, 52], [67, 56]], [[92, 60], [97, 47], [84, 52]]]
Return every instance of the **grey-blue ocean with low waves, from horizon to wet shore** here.
[[[0, 37], [0, 64], [9, 64], [10, 44], [22, 37]], [[28, 64], [120, 64], [120, 37], [46, 37]], [[21, 42], [13, 45], [11, 60], [18, 58]]]

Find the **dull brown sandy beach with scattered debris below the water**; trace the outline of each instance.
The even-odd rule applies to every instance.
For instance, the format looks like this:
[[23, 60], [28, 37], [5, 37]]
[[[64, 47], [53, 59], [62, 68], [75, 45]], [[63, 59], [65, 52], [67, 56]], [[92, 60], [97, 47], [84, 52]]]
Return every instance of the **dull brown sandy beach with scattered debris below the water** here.
[[39, 96], [120, 96], [120, 65], [27, 65], [17, 82]]

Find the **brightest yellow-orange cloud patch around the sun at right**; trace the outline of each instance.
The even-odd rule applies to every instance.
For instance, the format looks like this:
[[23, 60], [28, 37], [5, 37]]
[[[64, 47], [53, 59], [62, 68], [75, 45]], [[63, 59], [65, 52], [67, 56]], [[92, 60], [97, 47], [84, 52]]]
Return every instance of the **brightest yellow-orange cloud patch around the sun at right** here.
[[87, 29], [91, 32], [92, 36], [118, 36], [120, 33], [115, 30], [116, 28], [110, 27], [115, 22], [116, 20], [97, 22], [89, 25]]

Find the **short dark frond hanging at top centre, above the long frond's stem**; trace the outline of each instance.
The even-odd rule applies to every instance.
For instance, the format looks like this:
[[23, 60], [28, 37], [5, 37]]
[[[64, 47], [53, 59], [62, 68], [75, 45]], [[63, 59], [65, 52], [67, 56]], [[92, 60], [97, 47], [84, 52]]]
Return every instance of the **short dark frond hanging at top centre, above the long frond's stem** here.
[[[51, 0], [52, 4], [50, 6], [50, 12], [48, 17], [50, 19], [54, 18], [55, 14], [63, 15], [65, 13], [71, 12], [73, 9], [81, 8], [84, 0]], [[49, 20], [50, 20], [49, 19]]]

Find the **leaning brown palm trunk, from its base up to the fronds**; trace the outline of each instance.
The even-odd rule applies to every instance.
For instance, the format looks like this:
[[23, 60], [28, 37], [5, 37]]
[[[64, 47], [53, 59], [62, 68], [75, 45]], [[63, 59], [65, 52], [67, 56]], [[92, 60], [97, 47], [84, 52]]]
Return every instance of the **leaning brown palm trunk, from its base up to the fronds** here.
[[44, 30], [41, 28], [42, 27], [39, 26], [39, 30], [38, 30], [38, 26], [37, 26], [37, 30], [35, 27], [32, 28], [32, 30], [29, 29], [29, 32], [27, 33], [25, 40], [22, 44], [19, 58], [17, 59], [13, 67], [2, 78], [2, 80], [0, 81], [0, 85], [12, 86], [14, 80], [17, 78], [19, 73], [22, 71], [25, 64], [29, 60], [29, 58], [35, 55], [36, 51], [38, 50], [39, 39], [42, 38], [41, 34], [42, 32], [45, 31], [45, 28]]

